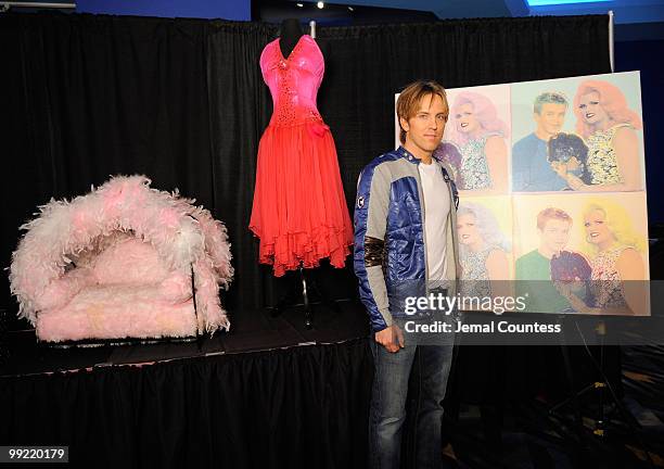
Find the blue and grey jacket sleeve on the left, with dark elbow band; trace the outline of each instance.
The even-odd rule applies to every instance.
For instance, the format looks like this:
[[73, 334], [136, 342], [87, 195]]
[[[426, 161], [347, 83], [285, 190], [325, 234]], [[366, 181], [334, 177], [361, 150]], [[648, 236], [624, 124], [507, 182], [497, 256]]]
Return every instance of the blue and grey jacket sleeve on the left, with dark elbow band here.
[[390, 191], [390, 178], [380, 164], [362, 170], [355, 202], [354, 268], [374, 332], [392, 326], [383, 274]]

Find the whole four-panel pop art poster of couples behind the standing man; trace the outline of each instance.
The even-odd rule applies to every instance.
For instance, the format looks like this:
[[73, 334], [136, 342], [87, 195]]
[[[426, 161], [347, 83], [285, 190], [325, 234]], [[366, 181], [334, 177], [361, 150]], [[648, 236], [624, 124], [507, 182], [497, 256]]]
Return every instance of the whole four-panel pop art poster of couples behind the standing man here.
[[[494, 216], [485, 245], [508, 259], [509, 274], [499, 277], [515, 280], [516, 293], [532, 290], [527, 310], [650, 314], [639, 73], [449, 89], [447, 97], [434, 156], [455, 177], [460, 211], [476, 204], [475, 225]], [[397, 145], [398, 136], [395, 116]], [[464, 244], [468, 228], [457, 227], [464, 275], [484, 276], [490, 289], [495, 265]]]

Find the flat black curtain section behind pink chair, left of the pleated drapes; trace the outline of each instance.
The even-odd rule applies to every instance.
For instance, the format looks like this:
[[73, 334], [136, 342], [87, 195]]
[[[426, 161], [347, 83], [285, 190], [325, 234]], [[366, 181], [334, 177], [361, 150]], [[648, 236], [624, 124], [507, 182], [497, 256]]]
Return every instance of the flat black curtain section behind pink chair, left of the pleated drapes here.
[[204, 22], [3, 14], [0, 43], [3, 268], [37, 205], [110, 175], [214, 208]]

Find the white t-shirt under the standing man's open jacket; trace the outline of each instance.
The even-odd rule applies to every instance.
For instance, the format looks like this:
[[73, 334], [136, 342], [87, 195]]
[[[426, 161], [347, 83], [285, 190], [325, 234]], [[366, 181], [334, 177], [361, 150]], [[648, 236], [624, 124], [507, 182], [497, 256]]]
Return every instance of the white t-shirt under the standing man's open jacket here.
[[429, 165], [420, 163], [418, 169], [424, 193], [427, 280], [445, 280], [447, 279], [447, 217], [451, 208], [449, 189], [443, 178], [443, 170], [436, 162]]

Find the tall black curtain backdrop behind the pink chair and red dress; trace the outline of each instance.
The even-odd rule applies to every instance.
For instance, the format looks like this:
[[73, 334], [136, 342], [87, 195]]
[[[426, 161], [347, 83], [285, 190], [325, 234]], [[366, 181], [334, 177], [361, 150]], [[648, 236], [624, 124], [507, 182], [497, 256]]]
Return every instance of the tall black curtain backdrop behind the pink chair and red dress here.
[[[393, 147], [394, 93], [406, 84], [605, 73], [606, 25], [606, 16], [566, 16], [320, 28], [327, 75], [319, 107], [336, 141], [349, 210], [362, 166]], [[286, 283], [257, 264], [247, 225], [258, 140], [271, 114], [258, 59], [277, 35], [277, 26], [256, 23], [0, 16], [1, 264], [9, 265], [17, 227], [37, 205], [85, 193], [110, 175], [142, 173], [227, 224], [237, 277], [226, 306], [273, 304]], [[323, 266], [319, 277], [331, 296], [356, 297], [349, 267]], [[14, 312], [5, 276], [0, 288], [0, 307]]]

